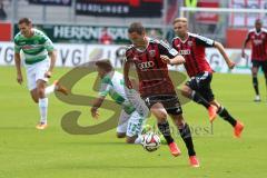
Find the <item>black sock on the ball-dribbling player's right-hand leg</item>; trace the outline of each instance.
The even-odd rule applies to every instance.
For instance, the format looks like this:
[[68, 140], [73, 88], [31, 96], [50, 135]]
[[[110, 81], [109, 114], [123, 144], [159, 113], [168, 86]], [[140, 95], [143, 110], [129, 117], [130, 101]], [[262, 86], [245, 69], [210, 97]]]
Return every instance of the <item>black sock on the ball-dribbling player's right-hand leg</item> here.
[[180, 136], [182, 138], [182, 140], [186, 144], [187, 150], [188, 150], [188, 155], [189, 156], [195, 156], [195, 149], [194, 149], [194, 144], [192, 144], [192, 138], [191, 138], [191, 131], [190, 128], [187, 123], [185, 123], [184, 126], [179, 127], [179, 132]]

